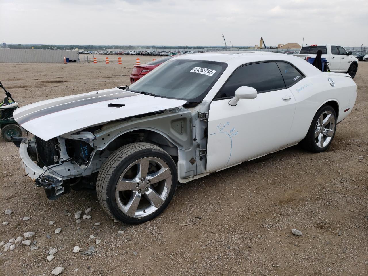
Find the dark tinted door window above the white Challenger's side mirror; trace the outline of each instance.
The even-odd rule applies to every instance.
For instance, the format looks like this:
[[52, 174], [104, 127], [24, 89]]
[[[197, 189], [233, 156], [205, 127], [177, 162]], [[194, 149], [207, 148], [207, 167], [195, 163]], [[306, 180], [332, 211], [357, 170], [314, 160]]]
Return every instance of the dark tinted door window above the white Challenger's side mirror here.
[[250, 86], [258, 93], [285, 88], [285, 82], [275, 62], [262, 62], [238, 68], [220, 89], [216, 98], [232, 98], [240, 86]]

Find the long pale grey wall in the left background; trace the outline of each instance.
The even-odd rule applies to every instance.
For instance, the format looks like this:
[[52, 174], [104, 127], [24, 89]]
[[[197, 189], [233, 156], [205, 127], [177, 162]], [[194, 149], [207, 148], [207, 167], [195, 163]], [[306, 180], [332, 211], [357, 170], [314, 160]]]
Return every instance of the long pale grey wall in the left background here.
[[0, 49], [0, 62], [64, 62], [64, 57], [79, 61], [77, 51]]

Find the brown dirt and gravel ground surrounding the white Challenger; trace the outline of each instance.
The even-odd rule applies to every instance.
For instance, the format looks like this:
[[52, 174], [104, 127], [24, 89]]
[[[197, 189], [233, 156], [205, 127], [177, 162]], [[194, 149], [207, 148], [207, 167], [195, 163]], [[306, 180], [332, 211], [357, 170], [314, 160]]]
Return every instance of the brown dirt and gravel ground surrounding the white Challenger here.
[[[137, 56], [122, 56], [122, 65], [108, 57], [110, 64], [102, 55], [98, 64], [0, 63], [0, 79], [21, 106], [130, 84]], [[25, 176], [18, 149], [0, 138], [0, 223], [9, 222], [0, 224], [0, 242], [34, 231], [38, 246], [0, 255], [0, 275], [51, 275], [56, 266], [61, 275], [367, 275], [368, 63], [358, 66], [355, 107], [328, 151], [293, 146], [192, 181], [162, 215], [137, 226], [114, 223], [88, 192], [49, 201]], [[77, 224], [74, 213], [89, 207], [92, 218]], [[95, 252], [73, 253], [76, 245]]]

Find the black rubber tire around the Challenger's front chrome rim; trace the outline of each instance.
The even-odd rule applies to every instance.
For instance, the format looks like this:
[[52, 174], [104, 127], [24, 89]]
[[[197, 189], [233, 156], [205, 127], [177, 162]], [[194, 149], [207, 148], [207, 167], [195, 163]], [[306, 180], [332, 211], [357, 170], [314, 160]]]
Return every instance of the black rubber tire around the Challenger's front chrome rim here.
[[[162, 205], [153, 213], [140, 218], [126, 215], [118, 206], [116, 200], [116, 186], [121, 174], [134, 162], [141, 158], [159, 158], [163, 160], [171, 173], [170, 191]], [[166, 180], [165, 180], [166, 181]], [[138, 142], [125, 145], [117, 149], [103, 164], [96, 183], [98, 200], [105, 212], [113, 219], [128, 224], [147, 222], [158, 216], [169, 205], [177, 187], [177, 168], [171, 156], [158, 146]], [[143, 194], [143, 190], [142, 190]], [[144, 211], [145, 212], [145, 211]]]

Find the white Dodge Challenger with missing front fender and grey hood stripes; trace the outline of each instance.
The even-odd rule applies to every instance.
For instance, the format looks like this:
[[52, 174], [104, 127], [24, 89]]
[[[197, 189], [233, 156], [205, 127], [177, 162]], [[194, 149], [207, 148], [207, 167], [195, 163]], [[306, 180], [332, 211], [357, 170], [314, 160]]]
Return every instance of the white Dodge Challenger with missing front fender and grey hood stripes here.
[[47, 197], [94, 189], [110, 216], [136, 224], [166, 208], [178, 181], [298, 143], [325, 151], [355, 99], [348, 74], [298, 57], [185, 55], [131, 86], [21, 107], [14, 118], [33, 135], [13, 141]]

